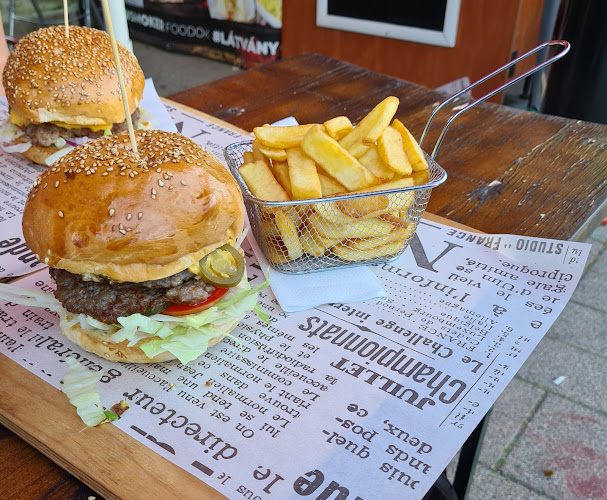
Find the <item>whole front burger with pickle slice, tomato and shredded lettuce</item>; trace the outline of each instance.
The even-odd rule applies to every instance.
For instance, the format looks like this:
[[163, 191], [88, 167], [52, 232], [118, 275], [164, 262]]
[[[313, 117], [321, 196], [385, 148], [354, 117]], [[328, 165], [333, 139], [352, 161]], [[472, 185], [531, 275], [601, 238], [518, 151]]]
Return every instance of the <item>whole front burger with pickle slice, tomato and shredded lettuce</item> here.
[[108, 360], [187, 363], [259, 310], [238, 249], [242, 196], [190, 139], [135, 137], [137, 154], [128, 133], [94, 139], [36, 180], [23, 234], [57, 285], [39, 305]]

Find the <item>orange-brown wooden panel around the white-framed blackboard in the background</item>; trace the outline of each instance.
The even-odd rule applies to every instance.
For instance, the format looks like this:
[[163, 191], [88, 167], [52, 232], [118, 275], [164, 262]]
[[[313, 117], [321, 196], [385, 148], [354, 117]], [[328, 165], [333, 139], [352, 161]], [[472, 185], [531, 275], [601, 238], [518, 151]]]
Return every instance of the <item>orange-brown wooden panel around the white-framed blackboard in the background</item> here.
[[[475, 81], [509, 62], [514, 51], [521, 55], [537, 45], [542, 4], [462, 0], [456, 45], [451, 48], [321, 28], [316, 26], [315, 0], [284, 0], [282, 56], [324, 54], [428, 87], [464, 76]], [[369, 8], [372, 5], [369, 2]], [[506, 75], [496, 80], [474, 95], [499, 86]]]

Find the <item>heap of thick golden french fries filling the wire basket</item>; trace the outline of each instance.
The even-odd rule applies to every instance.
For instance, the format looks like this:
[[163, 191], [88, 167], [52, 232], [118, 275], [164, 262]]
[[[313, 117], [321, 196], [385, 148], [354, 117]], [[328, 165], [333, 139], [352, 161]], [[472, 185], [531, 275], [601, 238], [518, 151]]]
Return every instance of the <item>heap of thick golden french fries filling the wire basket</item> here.
[[[254, 129], [252, 151], [243, 154], [239, 169], [245, 183], [262, 200], [298, 200], [258, 209], [270, 262], [305, 263], [304, 255], [361, 262], [402, 252], [417, 226], [409, 218], [416, 192], [404, 188], [430, 176], [424, 152], [394, 118], [398, 104], [387, 97], [356, 127], [337, 116], [322, 124]], [[383, 193], [390, 190], [397, 192]], [[359, 197], [310, 201], [346, 194]]]

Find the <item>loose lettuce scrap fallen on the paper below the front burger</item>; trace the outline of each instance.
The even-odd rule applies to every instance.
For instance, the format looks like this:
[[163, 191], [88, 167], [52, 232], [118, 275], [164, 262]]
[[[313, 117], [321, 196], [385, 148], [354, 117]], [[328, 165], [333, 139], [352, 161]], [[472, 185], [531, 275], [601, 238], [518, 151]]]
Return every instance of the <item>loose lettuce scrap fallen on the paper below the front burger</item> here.
[[99, 425], [106, 418], [96, 389], [103, 372], [91, 371], [74, 358], [68, 358], [66, 363], [70, 371], [62, 379], [61, 391], [76, 407], [76, 412], [86, 425]]

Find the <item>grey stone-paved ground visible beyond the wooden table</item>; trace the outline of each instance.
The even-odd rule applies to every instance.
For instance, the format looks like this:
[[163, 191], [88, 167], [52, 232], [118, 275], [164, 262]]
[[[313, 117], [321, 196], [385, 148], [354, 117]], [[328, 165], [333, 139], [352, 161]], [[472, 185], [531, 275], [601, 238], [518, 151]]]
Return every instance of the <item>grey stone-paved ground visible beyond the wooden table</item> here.
[[[162, 96], [240, 71], [138, 42], [134, 52]], [[573, 299], [495, 404], [469, 500], [607, 499], [607, 225], [588, 243]]]

